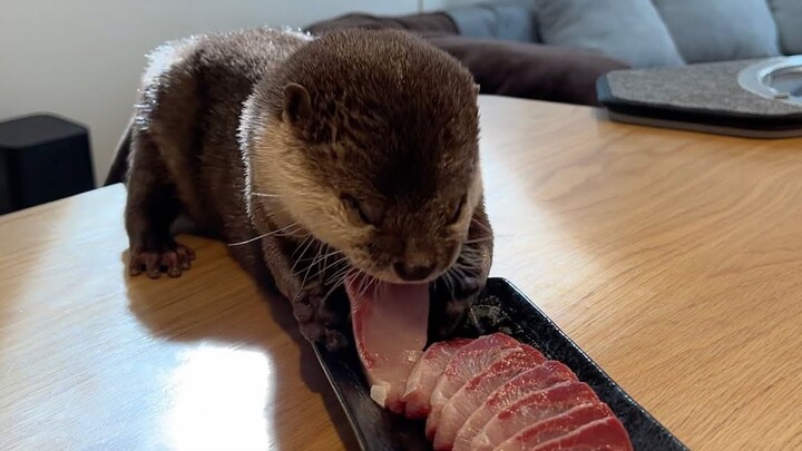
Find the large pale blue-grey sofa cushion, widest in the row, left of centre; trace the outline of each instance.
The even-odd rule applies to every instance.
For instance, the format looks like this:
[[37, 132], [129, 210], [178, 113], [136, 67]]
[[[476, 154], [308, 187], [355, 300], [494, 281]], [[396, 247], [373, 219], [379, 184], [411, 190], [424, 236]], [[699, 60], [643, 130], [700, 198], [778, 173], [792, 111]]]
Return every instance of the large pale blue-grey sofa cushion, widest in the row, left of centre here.
[[590, 50], [635, 68], [682, 66], [649, 0], [539, 0], [542, 42]]

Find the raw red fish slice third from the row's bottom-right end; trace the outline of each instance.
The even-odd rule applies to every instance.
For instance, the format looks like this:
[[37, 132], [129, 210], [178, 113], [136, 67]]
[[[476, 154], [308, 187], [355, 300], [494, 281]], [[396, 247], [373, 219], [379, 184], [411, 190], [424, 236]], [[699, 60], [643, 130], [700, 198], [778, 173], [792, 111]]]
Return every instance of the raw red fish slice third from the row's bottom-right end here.
[[584, 382], [568, 382], [528, 394], [497, 413], [471, 443], [475, 451], [491, 451], [501, 442], [536, 422], [559, 415], [577, 405], [600, 403]]

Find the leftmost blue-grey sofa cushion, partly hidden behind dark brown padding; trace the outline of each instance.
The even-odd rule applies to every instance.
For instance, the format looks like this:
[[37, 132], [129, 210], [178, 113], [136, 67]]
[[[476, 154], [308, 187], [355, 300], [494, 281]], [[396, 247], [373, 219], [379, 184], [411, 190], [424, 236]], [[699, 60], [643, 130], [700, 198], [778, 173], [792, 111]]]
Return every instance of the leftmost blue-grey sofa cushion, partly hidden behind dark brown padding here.
[[459, 33], [478, 39], [537, 40], [532, 7], [520, 2], [479, 3], [446, 9]]

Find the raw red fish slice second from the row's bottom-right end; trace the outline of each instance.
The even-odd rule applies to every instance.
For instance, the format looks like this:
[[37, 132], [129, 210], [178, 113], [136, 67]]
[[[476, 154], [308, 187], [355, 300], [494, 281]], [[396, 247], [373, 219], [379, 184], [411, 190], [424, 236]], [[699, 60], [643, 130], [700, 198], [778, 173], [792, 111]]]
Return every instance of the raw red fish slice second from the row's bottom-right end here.
[[608, 416], [615, 415], [607, 404], [597, 403], [579, 405], [561, 415], [552, 416], [548, 420], [526, 427], [522, 431], [502, 442], [499, 447], [497, 447], [497, 449], [501, 449], [503, 451], [528, 451], [552, 439], [569, 434], [596, 420], [602, 420]]

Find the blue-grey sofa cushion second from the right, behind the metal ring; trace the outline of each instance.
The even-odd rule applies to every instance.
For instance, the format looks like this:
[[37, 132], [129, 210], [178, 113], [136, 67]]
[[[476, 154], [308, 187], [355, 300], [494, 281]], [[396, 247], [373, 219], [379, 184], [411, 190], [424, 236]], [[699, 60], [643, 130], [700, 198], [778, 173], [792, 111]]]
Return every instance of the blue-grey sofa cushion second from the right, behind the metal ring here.
[[776, 23], [766, 0], [654, 0], [654, 3], [687, 62], [780, 55]]

